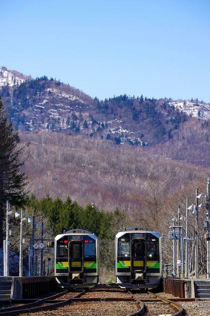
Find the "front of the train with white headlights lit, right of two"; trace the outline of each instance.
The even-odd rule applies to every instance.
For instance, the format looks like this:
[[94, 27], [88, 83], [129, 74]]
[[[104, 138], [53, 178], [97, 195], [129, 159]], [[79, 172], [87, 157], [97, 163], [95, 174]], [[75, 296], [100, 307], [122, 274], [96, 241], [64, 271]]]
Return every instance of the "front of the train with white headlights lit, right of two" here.
[[115, 238], [115, 274], [120, 287], [158, 287], [162, 276], [161, 235], [143, 230], [118, 233]]

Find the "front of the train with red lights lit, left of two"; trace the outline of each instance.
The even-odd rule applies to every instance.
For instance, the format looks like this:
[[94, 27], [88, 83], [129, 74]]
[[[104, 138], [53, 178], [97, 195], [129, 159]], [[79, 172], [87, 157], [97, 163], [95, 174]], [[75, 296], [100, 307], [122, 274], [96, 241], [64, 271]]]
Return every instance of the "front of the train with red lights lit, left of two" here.
[[99, 278], [98, 238], [83, 230], [56, 236], [55, 277], [62, 288], [95, 286]]

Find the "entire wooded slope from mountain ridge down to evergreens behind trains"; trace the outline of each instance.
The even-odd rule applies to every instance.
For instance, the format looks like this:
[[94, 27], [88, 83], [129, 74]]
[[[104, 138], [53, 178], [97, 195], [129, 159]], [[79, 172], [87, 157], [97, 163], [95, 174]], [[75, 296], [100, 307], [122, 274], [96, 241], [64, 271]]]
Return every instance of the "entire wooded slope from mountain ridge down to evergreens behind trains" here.
[[[199, 273], [206, 272], [210, 127], [201, 119], [198, 100], [191, 100], [199, 114], [195, 118], [171, 107], [168, 99], [124, 94], [99, 101], [45, 76], [0, 92], [18, 131], [17, 167], [27, 178], [22, 206], [26, 216], [36, 218], [35, 235], [40, 235], [41, 223], [50, 238], [71, 228], [90, 230], [100, 238], [102, 267], [111, 273], [115, 234], [126, 226], [146, 227], [162, 234], [163, 265], [172, 265], [170, 226], [186, 216], [186, 199], [195, 204], [198, 189], [204, 193]], [[21, 207], [15, 201], [12, 206]], [[24, 225], [27, 266], [31, 227]], [[182, 225], [185, 232], [184, 221]], [[10, 227], [11, 250], [17, 253], [14, 218]], [[195, 216], [189, 212], [189, 237], [194, 238], [194, 227]], [[193, 270], [194, 242], [189, 247]]]

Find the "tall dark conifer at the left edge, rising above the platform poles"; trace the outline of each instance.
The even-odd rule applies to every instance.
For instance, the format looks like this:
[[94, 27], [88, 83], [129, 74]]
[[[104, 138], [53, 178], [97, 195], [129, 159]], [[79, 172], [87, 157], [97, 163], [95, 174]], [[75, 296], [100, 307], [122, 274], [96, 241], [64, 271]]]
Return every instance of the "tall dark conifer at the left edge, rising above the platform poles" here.
[[[0, 97], [0, 201], [10, 201], [12, 205], [23, 205], [26, 198], [24, 188], [26, 176], [21, 172], [24, 162], [20, 155], [25, 147], [19, 148], [19, 136], [13, 131], [7, 111]], [[0, 247], [3, 243], [3, 221], [5, 209], [0, 207]]]

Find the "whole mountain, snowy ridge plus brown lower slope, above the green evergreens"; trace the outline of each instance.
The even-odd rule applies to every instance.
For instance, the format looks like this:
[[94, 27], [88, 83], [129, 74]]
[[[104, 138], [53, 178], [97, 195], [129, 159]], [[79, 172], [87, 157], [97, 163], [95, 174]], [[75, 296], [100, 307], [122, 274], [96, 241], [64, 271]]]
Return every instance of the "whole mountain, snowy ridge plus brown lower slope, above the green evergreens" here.
[[154, 217], [159, 200], [209, 174], [209, 103], [127, 95], [99, 100], [3, 67], [0, 96], [21, 144], [28, 191]]

